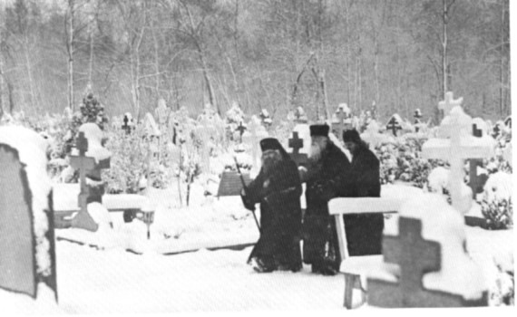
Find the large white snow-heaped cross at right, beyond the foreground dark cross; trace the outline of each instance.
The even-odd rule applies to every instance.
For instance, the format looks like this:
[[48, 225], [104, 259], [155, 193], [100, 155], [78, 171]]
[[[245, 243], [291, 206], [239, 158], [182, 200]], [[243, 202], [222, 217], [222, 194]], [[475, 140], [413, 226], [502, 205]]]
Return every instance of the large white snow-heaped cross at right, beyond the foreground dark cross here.
[[449, 161], [449, 187], [453, 207], [461, 211], [463, 160], [483, 159], [493, 155], [490, 139], [474, 138], [472, 135], [472, 118], [463, 112], [462, 107], [454, 107], [442, 120], [438, 137], [429, 139], [422, 147], [424, 159], [444, 159]]

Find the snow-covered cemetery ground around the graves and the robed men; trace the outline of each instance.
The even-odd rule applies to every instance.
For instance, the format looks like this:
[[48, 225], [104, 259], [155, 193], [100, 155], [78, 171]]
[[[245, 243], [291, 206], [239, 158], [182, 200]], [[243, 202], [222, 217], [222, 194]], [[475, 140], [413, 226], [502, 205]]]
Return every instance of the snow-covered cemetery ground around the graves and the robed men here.
[[[198, 188], [199, 189], [199, 188]], [[385, 186], [383, 196], [415, 197], [420, 189]], [[59, 304], [50, 296], [37, 301], [0, 290], [3, 312], [19, 313], [164, 313], [164, 312], [258, 312], [333, 311], [343, 309], [342, 275], [301, 272], [255, 273], [246, 261], [251, 247], [241, 250], [209, 251], [214, 245], [235, 245], [256, 241], [257, 228], [239, 197], [193, 200], [190, 209], [173, 205], [171, 192], [153, 191], [160, 201], [151, 240], [139, 220], [122, 222], [113, 214], [112, 232], [96, 240], [103, 249], [88, 246], [91, 236], [79, 229], [57, 230], [56, 235], [83, 241], [86, 245], [58, 240], [56, 244]], [[200, 198], [199, 194], [194, 195]], [[394, 226], [396, 216], [386, 220]], [[177, 238], [164, 233], [182, 232]], [[467, 248], [484, 277], [494, 283], [494, 258], [512, 257], [511, 230], [487, 231], [465, 227]], [[80, 234], [82, 233], [82, 234]], [[117, 243], [105, 243], [117, 236]], [[93, 241], [95, 242], [95, 241]], [[142, 255], [127, 252], [128, 246]], [[164, 250], [198, 251], [161, 255]], [[45, 294], [45, 293], [44, 293]], [[45, 301], [46, 300], [46, 301]], [[44, 302], [44, 303], [42, 303]], [[363, 306], [363, 311], [366, 306]]]

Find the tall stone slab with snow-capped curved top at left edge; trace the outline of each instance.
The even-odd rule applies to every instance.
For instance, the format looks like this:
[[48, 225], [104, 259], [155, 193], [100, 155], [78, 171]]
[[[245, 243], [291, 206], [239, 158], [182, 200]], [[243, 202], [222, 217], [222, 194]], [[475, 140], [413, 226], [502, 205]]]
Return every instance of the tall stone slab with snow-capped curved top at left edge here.
[[46, 143], [33, 130], [0, 127], [0, 288], [57, 300], [52, 187]]

